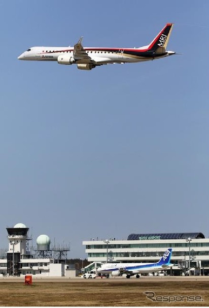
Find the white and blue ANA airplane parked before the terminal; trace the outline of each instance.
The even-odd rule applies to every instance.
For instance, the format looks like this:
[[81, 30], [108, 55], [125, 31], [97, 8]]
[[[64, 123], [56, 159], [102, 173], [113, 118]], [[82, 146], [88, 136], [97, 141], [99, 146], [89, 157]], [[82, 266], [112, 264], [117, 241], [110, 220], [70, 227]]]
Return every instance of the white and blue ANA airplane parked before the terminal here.
[[112, 273], [113, 276], [126, 274], [126, 278], [136, 275], [136, 278], [139, 278], [140, 273], [157, 272], [173, 266], [173, 264], [170, 263], [171, 255], [172, 248], [168, 248], [157, 263], [106, 263], [102, 264], [101, 267], [97, 269], [97, 272], [104, 274]]

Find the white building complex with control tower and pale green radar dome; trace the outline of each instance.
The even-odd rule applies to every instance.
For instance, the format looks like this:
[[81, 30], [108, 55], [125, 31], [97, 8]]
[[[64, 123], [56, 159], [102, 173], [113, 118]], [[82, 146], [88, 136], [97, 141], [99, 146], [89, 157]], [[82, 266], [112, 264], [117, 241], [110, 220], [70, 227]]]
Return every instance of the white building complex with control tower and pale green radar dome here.
[[7, 259], [0, 259], [0, 275], [64, 276], [67, 265], [61, 262], [64, 260], [58, 262], [58, 260], [50, 258], [50, 238], [48, 235], [42, 234], [37, 238], [37, 255], [42, 258], [34, 258], [34, 255], [30, 254], [28, 230], [29, 228], [23, 223], [17, 223], [13, 228], [7, 228], [9, 250]]

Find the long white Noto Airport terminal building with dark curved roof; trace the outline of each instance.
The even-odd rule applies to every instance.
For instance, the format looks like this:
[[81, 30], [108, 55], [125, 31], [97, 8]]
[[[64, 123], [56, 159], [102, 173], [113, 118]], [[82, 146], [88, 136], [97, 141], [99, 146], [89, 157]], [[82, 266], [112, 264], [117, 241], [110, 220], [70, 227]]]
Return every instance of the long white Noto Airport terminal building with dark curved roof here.
[[[172, 274], [209, 274], [209, 238], [200, 233], [130, 234], [127, 240], [83, 241], [88, 261], [157, 262], [167, 248], [172, 248]], [[108, 255], [107, 255], [108, 251]]]

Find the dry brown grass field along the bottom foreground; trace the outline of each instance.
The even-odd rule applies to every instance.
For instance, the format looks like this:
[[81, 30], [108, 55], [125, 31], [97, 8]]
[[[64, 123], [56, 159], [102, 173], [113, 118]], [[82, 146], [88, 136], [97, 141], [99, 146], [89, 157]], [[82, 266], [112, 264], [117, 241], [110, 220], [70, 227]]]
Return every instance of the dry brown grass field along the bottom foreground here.
[[[154, 301], [147, 291], [155, 292]], [[5, 279], [0, 280], [0, 305], [208, 306], [209, 279], [33, 279], [32, 286]]]

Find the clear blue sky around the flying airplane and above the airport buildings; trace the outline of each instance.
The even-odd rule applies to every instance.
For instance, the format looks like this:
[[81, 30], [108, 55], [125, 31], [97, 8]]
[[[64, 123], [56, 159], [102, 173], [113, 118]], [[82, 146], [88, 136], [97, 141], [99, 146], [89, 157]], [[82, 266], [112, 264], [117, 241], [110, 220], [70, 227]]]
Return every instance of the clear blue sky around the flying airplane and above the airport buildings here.
[[[25, 223], [71, 242], [209, 234], [208, 1], [0, 2], [0, 247]], [[140, 47], [166, 22], [169, 50], [92, 71], [18, 61], [31, 46]]]

